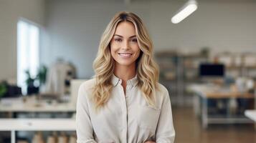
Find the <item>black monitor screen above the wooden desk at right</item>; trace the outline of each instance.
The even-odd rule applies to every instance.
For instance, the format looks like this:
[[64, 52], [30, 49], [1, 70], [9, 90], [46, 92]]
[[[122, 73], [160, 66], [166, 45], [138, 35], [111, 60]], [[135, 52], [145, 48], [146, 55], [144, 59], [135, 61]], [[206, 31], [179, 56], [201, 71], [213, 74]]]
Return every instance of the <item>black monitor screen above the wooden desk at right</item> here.
[[224, 77], [224, 64], [200, 64], [200, 77]]

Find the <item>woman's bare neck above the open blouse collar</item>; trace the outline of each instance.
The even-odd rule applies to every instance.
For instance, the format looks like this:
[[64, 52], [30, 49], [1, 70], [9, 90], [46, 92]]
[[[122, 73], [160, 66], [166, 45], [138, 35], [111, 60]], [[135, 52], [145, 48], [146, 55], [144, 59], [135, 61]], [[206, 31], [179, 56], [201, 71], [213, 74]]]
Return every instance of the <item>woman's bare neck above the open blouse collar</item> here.
[[122, 79], [123, 82], [126, 82], [136, 76], [136, 65], [123, 66], [115, 64], [114, 74], [119, 79]]

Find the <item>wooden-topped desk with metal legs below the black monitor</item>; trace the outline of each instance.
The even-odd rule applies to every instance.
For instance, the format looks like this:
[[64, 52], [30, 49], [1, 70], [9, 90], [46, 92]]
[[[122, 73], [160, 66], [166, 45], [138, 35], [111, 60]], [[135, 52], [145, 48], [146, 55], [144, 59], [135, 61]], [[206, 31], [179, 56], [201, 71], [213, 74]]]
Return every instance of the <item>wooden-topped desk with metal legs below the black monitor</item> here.
[[214, 84], [191, 84], [188, 88], [194, 92], [194, 112], [201, 116], [204, 128], [207, 128], [208, 124], [252, 123], [246, 117], [232, 116], [230, 110], [225, 117], [210, 117], [208, 99], [255, 99], [255, 94], [232, 92], [227, 87], [218, 87]]

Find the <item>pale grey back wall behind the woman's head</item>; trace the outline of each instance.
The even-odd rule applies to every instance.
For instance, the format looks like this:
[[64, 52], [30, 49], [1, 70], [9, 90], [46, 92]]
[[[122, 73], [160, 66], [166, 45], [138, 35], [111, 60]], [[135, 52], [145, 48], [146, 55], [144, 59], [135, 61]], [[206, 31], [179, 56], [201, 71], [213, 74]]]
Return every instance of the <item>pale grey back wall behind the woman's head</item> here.
[[218, 51], [256, 52], [256, 3], [199, 1], [199, 9], [180, 24], [171, 16], [184, 3], [171, 1], [47, 1], [47, 36], [41, 59], [51, 64], [57, 57], [72, 61], [79, 78], [93, 75], [93, 59], [100, 35], [117, 11], [133, 11], [146, 23], [155, 50], [198, 51], [209, 46]]

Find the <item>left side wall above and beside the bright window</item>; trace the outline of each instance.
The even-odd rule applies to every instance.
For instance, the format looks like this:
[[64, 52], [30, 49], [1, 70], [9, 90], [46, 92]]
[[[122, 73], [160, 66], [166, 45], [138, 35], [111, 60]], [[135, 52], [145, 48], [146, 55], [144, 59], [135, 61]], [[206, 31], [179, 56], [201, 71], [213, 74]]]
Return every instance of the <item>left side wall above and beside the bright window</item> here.
[[44, 0], [0, 0], [0, 81], [16, 79], [16, 23], [19, 17], [44, 25]]

